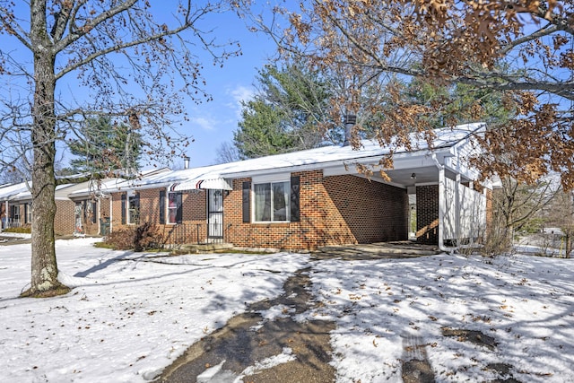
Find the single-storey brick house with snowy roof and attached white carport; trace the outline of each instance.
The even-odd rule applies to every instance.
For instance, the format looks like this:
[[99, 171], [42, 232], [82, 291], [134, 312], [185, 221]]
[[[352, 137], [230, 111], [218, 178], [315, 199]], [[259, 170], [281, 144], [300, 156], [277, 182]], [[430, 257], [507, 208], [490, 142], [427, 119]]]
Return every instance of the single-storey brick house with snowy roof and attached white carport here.
[[151, 222], [170, 244], [313, 249], [405, 240], [413, 224], [418, 242], [447, 249], [485, 231], [489, 191], [465, 161], [483, 129], [437, 129], [432, 150], [412, 135], [390, 180], [377, 170], [390, 149], [370, 141], [147, 175], [111, 191], [111, 226]]

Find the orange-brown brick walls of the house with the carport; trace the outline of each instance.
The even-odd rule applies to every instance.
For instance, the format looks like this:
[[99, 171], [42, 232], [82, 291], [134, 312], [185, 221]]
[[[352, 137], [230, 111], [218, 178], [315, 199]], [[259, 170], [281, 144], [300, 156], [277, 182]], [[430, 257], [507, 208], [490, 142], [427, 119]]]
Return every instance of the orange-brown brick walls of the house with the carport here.
[[[299, 222], [243, 222], [243, 183], [252, 179], [237, 178], [233, 189], [223, 193], [223, 240], [237, 247], [298, 250], [408, 238], [405, 189], [351, 175], [324, 177], [322, 170], [295, 172], [291, 177], [299, 177], [300, 182]], [[179, 224], [160, 224], [160, 196], [164, 192], [167, 197], [165, 188], [136, 191], [140, 222], [156, 225], [168, 244], [204, 243], [207, 190], [182, 193]], [[121, 195], [115, 193], [112, 197], [113, 230], [128, 226], [121, 222]], [[251, 209], [253, 193], [248, 196]]]

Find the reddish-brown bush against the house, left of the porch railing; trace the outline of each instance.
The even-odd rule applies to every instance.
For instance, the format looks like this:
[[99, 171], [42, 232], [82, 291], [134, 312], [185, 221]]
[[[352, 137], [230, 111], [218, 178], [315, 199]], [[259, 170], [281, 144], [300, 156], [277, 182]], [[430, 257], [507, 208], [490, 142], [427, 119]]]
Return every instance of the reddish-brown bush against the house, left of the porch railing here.
[[105, 244], [115, 250], [143, 251], [151, 248], [161, 248], [163, 235], [152, 223], [144, 222], [139, 226], [122, 228], [112, 231]]

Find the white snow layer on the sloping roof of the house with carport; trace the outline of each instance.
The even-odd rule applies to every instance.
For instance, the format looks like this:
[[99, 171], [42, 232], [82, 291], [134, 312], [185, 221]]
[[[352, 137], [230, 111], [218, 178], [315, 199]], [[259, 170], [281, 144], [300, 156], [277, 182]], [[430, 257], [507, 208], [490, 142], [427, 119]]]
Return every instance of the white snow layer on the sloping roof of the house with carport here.
[[[453, 127], [444, 127], [433, 130], [435, 135], [432, 141], [432, 150], [449, 148], [462, 140], [465, 140], [474, 132], [482, 129], [483, 123], [465, 124]], [[396, 140], [395, 140], [396, 141]], [[241, 173], [280, 170], [293, 167], [313, 166], [317, 168], [329, 162], [361, 161], [372, 157], [380, 157], [394, 151], [397, 153], [426, 152], [429, 144], [424, 136], [411, 134], [411, 147], [409, 151], [404, 146], [381, 147], [377, 141], [362, 140], [361, 148], [353, 149], [351, 146], [324, 146], [300, 152], [290, 152], [271, 156], [259, 157], [245, 161], [223, 163], [219, 165], [191, 168], [185, 170], [171, 170], [160, 174], [153, 174], [137, 180], [129, 180], [118, 185], [118, 189], [145, 188], [174, 185], [174, 190], [183, 190], [176, 184], [185, 183], [186, 188], [199, 188], [194, 185], [202, 180], [214, 180], [219, 178], [237, 178]]]

